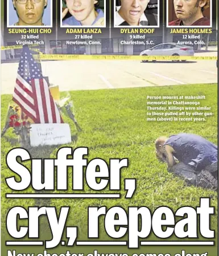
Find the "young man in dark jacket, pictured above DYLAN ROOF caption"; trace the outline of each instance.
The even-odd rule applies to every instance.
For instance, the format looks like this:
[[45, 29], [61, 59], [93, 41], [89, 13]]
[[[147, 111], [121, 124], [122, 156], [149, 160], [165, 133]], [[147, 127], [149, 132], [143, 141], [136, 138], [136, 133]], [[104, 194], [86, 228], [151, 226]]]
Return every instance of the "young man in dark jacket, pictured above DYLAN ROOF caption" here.
[[121, 0], [116, 7], [115, 26], [157, 26], [157, 15], [146, 12], [150, 0]]

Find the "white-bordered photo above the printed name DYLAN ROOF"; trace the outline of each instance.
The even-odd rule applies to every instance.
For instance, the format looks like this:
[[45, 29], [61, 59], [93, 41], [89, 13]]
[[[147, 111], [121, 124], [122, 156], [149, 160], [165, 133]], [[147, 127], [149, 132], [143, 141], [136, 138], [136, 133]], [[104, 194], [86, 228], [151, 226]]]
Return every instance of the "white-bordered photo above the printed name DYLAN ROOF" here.
[[114, 0], [114, 27], [159, 27], [159, 0]]

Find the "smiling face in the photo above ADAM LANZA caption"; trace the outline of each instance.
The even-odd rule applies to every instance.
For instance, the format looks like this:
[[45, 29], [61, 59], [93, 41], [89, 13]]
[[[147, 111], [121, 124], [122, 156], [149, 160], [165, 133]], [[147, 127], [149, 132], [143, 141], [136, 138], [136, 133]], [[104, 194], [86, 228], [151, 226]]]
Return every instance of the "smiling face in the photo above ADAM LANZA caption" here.
[[97, 2], [96, 0], [67, 0], [66, 4], [69, 13], [71, 13], [77, 21], [83, 22], [89, 19], [92, 13], [94, 14], [94, 5]]

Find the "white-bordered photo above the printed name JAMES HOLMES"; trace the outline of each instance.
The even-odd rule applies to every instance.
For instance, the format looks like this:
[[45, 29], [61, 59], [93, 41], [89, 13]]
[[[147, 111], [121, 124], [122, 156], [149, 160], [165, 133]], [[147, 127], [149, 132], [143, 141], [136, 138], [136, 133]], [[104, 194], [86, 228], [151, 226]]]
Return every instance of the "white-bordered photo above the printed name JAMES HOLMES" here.
[[167, 0], [167, 27], [211, 27], [212, 0]]

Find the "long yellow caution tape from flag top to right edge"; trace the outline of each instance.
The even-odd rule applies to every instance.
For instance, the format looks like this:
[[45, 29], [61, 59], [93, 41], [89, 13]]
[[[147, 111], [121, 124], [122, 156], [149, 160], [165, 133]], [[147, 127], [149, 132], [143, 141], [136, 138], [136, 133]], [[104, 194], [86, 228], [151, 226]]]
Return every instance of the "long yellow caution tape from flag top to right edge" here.
[[44, 60], [217, 60], [217, 56], [140, 56], [40, 54]]

